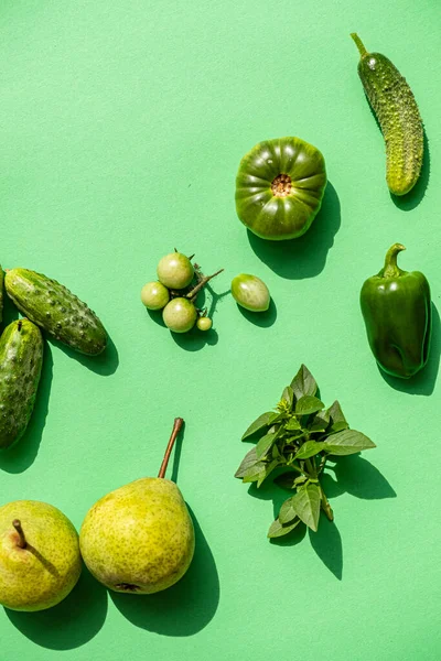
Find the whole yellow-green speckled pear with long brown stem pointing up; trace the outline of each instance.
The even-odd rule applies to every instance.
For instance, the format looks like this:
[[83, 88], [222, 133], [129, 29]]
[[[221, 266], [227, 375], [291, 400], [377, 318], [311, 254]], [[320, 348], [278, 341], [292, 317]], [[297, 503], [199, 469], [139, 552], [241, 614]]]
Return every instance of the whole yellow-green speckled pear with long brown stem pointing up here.
[[83, 559], [90, 573], [115, 592], [160, 592], [176, 583], [192, 562], [193, 522], [181, 491], [164, 478], [182, 424], [176, 418], [158, 477], [110, 491], [83, 522]]

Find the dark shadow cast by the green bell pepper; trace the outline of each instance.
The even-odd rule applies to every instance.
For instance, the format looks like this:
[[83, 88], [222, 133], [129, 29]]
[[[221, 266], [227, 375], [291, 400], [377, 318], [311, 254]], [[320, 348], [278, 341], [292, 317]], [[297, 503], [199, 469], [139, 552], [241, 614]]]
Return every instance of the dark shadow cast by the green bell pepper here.
[[437, 383], [441, 354], [441, 322], [433, 301], [431, 304], [431, 311], [432, 335], [429, 349], [429, 359], [426, 367], [423, 367], [423, 369], [421, 369], [415, 375], [415, 377], [411, 377], [410, 379], [392, 377], [387, 375], [380, 367], [378, 367], [378, 371], [385, 381], [400, 392], [407, 392], [409, 394], [424, 394], [427, 397], [433, 392]]

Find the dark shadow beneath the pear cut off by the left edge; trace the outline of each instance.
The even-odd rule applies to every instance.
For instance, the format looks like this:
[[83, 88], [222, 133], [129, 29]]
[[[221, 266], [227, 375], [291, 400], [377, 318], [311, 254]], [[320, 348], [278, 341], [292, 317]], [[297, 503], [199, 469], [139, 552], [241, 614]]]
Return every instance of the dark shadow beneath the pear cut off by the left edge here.
[[85, 644], [101, 629], [107, 615], [107, 592], [83, 567], [78, 583], [57, 606], [37, 613], [4, 608], [23, 636], [51, 650], [72, 650]]

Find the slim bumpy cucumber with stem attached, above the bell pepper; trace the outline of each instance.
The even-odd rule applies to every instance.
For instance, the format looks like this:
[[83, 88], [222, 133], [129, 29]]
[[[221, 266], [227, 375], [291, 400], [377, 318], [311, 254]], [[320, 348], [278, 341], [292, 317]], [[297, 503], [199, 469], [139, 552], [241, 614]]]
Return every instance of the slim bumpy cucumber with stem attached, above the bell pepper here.
[[423, 128], [415, 96], [385, 55], [368, 53], [357, 34], [358, 75], [386, 142], [386, 181], [390, 193], [405, 195], [421, 172]]

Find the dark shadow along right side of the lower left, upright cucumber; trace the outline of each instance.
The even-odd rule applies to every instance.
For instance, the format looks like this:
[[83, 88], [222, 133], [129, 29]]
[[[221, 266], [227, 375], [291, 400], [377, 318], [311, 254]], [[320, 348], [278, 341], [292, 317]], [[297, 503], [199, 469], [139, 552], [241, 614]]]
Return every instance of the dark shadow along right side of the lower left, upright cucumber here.
[[0, 468], [7, 473], [23, 473], [35, 460], [43, 437], [49, 411], [49, 398], [52, 387], [53, 371], [52, 350], [44, 343], [43, 366], [36, 392], [35, 405], [22, 438], [11, 448], [0, 452]]

